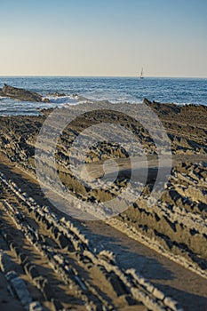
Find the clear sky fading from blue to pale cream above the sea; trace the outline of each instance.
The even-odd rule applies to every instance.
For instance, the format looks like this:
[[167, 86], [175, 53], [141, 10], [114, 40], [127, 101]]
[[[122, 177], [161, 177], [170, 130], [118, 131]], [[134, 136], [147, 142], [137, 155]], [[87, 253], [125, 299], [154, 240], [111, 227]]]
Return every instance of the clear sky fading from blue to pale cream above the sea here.
[[0, 0], [0, 76], [207, 77], [207, 0]]

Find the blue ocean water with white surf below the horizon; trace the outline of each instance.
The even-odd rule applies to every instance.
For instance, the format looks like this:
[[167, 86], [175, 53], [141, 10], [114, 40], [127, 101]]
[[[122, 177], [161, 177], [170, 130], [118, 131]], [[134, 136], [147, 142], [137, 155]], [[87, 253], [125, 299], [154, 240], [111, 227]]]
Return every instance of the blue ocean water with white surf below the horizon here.
[[[76, 105], [74, 94], [90, 100], [112, 103], [140, 103], [144, 98], [178, 105], [207, 105], [207, 78], [146, 77], [73, 77], [73, 76], [0, 76], [0, 88], [5, 84], [39, 92], [51, 103], [34, 103], [0, 97], [0, 115], [38, 115], [38, 108]], [[66, 96], [48, 95], [53, 92]]]

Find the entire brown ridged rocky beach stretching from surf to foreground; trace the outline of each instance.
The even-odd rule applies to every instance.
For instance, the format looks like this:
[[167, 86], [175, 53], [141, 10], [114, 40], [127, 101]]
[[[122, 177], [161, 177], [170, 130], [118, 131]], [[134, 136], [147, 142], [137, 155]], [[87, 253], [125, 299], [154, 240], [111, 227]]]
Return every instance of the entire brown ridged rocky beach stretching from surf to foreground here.
[[[0, 116], [0, 306], [4, 310], [175, 311], [207, 306], [207, 107], [144, 100], [163, 124], [172, 161], [162, 195], [149, 206], [158, 170], [155, 141], [143, 124], [113, 112], [109, 102], [104, 104], [104, 115], [99, 110], [87, 112], [88, 107], [96, 107], [94, 102], [88, 107], [71, 106], [69, 113], [76, 116], [78, 111], [78, 117], [60, 134], [55, 153], [60, 180], [73, 195], [83, 202], [106, 202], [127, 187], [129, 155], [120, 145], [104, 140], [103, 132], [97, 133], [100, 143], [87, 150], [87, 171], [100, 179], [103, 163], [113, 159], [119, 174], [114, 187], [90, 188], [68, 166], [73, 141], [103, 121], [121, 124], [139, 140], [149, 168], [146, 184], [128, 209], [103, 220], [74, 219], [56, 209], [37, 182], [36, 139], [53, 109], [42, 110], [41, 116]], [[141, 105], [133, 108], [134, 114], [142, 113]], [[68, 108], [59, 111], [58, 121], [64, 123]], [[147, 116], [142, 117], [147, 122]], [[151, 124], [156, 132], [157, 124]], [[53, 123], [51, 139], [56, 131]], [[47, 145], [40, 147], [47, 158]], [[165, 156], [163, 171], [169, 163], [169, 155]], [[44, 170], [49, 172], [50, 165], [44, 163]], [[139, 186], [141, 168], [140, 157]], [[49, 174], [44, 179], [53, 187]]]

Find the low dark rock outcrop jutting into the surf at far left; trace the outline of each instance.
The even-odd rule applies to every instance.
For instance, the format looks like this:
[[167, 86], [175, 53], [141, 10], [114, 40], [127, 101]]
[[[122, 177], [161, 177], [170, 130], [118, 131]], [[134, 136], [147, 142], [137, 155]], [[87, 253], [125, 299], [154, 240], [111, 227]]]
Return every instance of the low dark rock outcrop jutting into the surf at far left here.
[[29, 92], [27, 90], [16, 88], [7, 84], [4, 84], [3, 89], [0, 90], [0, 95], [10, 97], [12, 100], [50, 102], [49, 99], [44, 99], [42, 95], [36, 92]]

